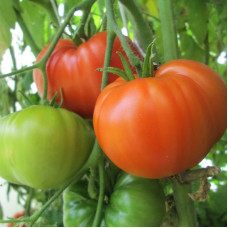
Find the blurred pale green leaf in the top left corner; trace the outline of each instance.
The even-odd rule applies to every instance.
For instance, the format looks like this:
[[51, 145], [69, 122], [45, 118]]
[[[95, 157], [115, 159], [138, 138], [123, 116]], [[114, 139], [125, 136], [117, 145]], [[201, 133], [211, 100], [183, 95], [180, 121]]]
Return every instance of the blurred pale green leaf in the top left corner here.
[[0, 58], [11, 44], [10, 29], [14, 28], [16, 15], [13, 0], [0, 1]]

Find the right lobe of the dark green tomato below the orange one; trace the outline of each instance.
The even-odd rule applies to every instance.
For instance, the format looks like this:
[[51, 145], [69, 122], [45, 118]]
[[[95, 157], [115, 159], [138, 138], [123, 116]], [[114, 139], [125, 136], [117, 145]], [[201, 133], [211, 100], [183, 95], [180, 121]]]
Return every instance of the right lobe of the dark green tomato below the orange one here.
[[105, 210], [105, 223], [109, 227], [160, 226], [164, 215], [165, 195], [159, 182], [124, 174]]

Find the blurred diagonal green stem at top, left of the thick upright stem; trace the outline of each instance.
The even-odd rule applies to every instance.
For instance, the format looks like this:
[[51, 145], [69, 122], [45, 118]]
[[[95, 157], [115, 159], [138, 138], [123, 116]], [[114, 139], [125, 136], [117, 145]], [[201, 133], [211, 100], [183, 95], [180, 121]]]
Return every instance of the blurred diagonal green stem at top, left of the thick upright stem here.
[[130, 12], [129, 19], [133, 25], [133, 31], [135, 38], [137, 39], [139, 46], [144, 52], [148, 45], [153, 40], [153, 33], [143, 18], [143, 14], [140, 12], [138, 6], [135, 4], [135, 1], [129, 0], [119, 0]]

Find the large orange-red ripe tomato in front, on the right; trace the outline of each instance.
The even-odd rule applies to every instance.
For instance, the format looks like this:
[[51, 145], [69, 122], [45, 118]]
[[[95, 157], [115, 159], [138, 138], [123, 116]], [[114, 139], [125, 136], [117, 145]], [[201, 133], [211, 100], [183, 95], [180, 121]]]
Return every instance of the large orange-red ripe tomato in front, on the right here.
[[226, 105], [226, 86], [216, 72], [174, 60], [154, 77], [108, 85], [96, 102], [95, 134], [124, 171], [167, 177], [207, 155], [226, 129]]

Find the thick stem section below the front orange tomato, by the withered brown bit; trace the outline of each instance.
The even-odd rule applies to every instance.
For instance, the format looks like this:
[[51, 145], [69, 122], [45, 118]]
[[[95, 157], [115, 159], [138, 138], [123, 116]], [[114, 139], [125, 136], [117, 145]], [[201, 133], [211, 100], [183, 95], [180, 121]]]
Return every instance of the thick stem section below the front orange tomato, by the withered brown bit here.
[[174, 200], [178, 214], [179, 227], [197, 226], [194, 203], [188, 196], [191, 193], [190, 184], [180, 184], [177, 180], [172, 180]]

